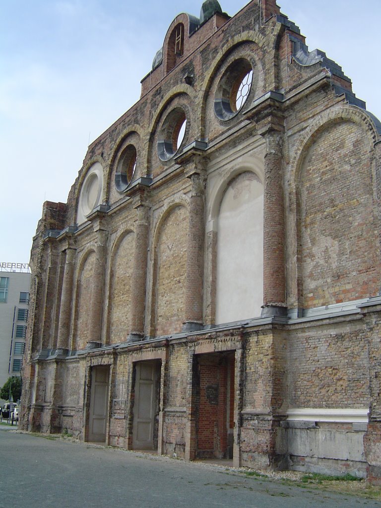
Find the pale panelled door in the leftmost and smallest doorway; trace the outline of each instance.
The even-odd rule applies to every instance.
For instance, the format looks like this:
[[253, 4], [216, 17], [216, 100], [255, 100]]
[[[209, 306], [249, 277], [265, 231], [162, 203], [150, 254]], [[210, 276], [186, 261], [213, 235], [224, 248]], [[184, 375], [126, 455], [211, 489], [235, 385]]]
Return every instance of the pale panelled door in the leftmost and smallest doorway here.
[[88, 441], [106, 441], [109, 377], [109, 365], [91, 368]]

